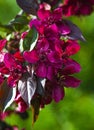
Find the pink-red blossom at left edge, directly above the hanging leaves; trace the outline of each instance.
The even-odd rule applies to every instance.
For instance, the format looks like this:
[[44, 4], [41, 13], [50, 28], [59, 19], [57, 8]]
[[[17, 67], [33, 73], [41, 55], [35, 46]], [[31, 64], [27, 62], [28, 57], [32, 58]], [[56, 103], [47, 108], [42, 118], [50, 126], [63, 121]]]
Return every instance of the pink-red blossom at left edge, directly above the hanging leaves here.
[[7, 82], [8, 85], [11, 87], [15, 87], [17, 82], [21, 78], [22, 74], [25, 72], [25, 67], [23, 66], [23, 60], [19, 60], [21, 56], [15, 55], [15, 57], [10, 54], [6, 53], [4, 55], [3, 62], [0, 63], [0, 73], [3, 75], [1, 79], [1, 83], [3, 78], [7, 75]]

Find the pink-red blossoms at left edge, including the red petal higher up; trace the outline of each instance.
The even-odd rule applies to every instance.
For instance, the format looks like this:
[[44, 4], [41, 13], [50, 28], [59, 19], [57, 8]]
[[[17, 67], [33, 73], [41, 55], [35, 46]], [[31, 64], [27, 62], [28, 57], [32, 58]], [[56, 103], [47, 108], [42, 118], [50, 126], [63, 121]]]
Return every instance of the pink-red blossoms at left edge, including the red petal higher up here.
[[7, 40], [0, 40], [1, 52], [0, 52], [0, 84], [7, 77], [7, 83], [10, 87], [15, 87], [18, 80], [25, 71], [25, 67], [22, 66], [24, 60], [21, 58], [19, 51], [14, 54], [10, 52], [2, 51], [3, 46], [7, 44]]

